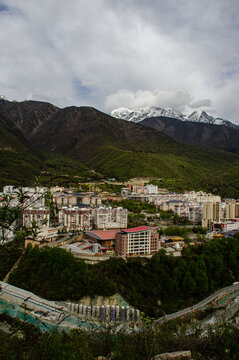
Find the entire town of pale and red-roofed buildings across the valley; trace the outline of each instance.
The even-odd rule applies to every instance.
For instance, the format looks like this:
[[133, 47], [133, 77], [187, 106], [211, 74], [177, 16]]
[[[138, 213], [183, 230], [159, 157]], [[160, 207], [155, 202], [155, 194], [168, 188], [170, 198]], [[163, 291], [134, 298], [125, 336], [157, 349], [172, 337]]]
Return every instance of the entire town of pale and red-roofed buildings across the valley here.
[[[122, 188], [121, 197], [150, 202], [162, 211], [171, 210], [214, 232], [239, 230], [238, 200], [222, 201], [220, 196], [202, 191], [159, 193], [158, 187], [151, 184]], [[157, 228], [138, 226], [127, 229], [127, 209], [104, 206], [102, 197], [93, 192], [74, 192], [63, 187], [5, 186], [0, 194], [0, 206], [6, 202], [10, 207], [18, 207], [21, 216], [7, 228], [1, 227], [1, 239], [11, 240], [14, 229], [19, 225], [17, 222], [20, 222], [21, 226], [32, 229], [26, 244], [34, 242], [44, 246], [44, 243], [58, 239], [59, 230], [68, 233], [81, 231], [83, 235], [74, 243], [64, 243], [64, 247], [76, 256], [83, 253], [94, 256], [151, 256], [161, 246], [169, 253], [180, 254], [184, 246], [182, 239], [176, 238], [160, 244]]]

